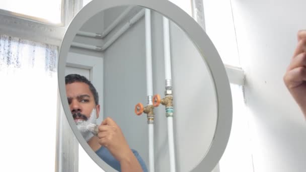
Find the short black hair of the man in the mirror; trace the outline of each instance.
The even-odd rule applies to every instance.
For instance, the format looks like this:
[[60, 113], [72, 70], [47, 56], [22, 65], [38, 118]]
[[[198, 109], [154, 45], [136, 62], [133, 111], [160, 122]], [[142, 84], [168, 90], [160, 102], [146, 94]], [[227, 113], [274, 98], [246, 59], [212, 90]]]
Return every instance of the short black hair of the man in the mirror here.
[[80, 74], [68, 74], [65, 76], [65, 84], [73, 83], [73, 82], [84, 82], [89, 85], [89, 90], [93, 93], [96, 105], [99, 105], [99, 95], [90, 80], [88, 80], [85, 76]]

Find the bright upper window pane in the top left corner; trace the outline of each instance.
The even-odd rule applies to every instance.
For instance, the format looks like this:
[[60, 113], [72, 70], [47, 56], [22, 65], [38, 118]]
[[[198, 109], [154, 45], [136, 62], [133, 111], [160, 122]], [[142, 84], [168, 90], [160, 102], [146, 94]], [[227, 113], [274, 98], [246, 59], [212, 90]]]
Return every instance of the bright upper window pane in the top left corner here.
[[62, 0], [5, 0], [0, 9], [61, 24]]

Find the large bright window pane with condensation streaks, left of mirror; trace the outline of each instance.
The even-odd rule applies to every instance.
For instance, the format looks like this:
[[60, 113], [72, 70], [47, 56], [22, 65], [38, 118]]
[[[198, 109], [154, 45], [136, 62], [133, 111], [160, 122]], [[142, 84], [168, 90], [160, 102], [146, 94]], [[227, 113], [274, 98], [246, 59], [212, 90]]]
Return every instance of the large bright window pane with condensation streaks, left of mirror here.
[[55, 171], [57, 49], [0, 35], [0, 171]]

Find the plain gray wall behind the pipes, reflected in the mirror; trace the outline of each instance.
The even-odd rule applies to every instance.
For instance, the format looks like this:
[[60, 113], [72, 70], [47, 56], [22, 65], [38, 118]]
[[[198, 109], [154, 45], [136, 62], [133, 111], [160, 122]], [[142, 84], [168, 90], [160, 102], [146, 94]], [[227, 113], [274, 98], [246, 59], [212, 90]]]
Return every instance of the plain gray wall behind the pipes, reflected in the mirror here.
[[[120, 10], [105, 13], [114, 18]], [[152, 58], [154, 94], [164, 97], [165, 73], [162, 16], [153, 13]], [[105, 24], [105, 26], [107, 26]], [[144, 18], [122, 35], [104, 54], [104, 116], [121, 127], [131, 148], [148, 166], [148, 129], [145, 114], [136, 116], [134, 106], [146, 105]], [[188, 37], [171, 25], [172, 74], [175, 106], [177, 171], [189, 171], [207, 151], [216, 126], [214, 89], [206, 65]], [[165, 108], [155, 109], [156, 171], [169, 171]]]

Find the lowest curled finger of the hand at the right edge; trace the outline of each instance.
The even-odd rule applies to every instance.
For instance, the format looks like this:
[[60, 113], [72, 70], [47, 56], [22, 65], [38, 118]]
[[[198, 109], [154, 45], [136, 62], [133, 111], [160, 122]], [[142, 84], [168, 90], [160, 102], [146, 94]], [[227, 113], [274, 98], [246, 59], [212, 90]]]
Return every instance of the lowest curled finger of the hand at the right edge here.
[[288, 71], [284, 76], [284, 82], [289, 89], [297, 87], [306, 81], [306, 67], [297, 67]]

